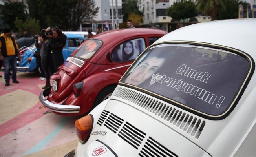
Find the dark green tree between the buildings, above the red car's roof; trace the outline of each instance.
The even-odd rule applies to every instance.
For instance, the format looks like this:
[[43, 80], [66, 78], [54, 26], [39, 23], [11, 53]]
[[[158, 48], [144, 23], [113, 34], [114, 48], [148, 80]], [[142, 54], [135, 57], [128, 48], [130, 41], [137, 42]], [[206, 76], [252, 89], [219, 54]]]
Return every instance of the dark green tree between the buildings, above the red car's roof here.
[[[123, 22], [126, 23], [130, 13], [135, 13], [138, 16], [143, 16], [143, 12], [139, 11], [137, 0], [122, 0]], [[130, 19], [129, 19], [130, 20]], [[142, 22], [142, 20], [141, 20]]]

